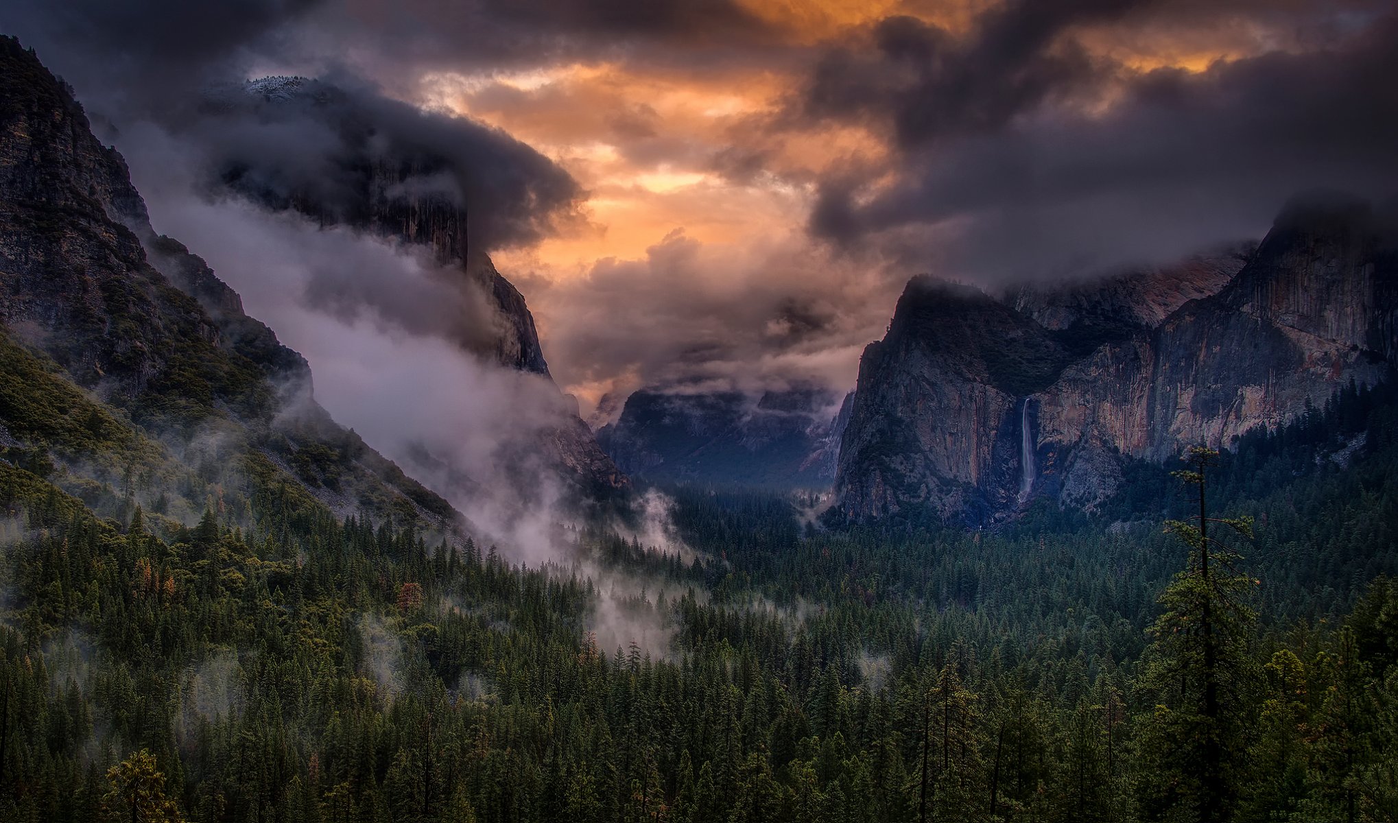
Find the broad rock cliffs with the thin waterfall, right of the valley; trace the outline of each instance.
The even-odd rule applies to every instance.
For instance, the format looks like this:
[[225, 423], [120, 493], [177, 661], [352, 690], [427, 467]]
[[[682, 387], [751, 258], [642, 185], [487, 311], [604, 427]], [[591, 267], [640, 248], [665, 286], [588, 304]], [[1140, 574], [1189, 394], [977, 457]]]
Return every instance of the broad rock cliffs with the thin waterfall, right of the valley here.
[[1392, 214], [1296, 198], [1253, 250], [997, 299], [914, 278], [860, 362], [836, 472], [853, 520], [1093, 509], [1130, 460], [1227, 447], [1394, 369]]

